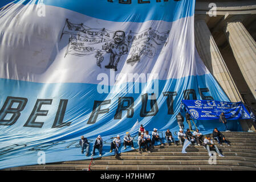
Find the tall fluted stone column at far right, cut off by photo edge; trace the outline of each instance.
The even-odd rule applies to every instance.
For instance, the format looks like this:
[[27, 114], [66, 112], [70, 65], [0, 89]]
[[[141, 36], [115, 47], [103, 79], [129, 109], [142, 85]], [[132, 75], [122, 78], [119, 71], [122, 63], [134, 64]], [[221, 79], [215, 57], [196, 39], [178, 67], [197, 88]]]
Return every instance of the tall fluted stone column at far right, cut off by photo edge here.
[[242, 15], [225, 16], [224, 32], [242, 75], [256, 99], [256, 43], [245, 26]]

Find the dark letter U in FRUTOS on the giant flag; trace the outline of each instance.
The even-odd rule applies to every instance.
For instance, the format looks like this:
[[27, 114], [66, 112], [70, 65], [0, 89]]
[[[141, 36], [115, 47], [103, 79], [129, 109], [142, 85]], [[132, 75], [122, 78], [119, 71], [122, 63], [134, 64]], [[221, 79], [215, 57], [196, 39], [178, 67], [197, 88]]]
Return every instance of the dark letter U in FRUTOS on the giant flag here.
[[157, 106], [156, 100], [151, 100], [151, 110], [147, 111], [147, 103], [148, 103], [148, 94], [141, 95], [141, 110], [140, 110], [140, 117], [148, 117], [148, 116], [154, 116], [158, 113], [159, 107]]

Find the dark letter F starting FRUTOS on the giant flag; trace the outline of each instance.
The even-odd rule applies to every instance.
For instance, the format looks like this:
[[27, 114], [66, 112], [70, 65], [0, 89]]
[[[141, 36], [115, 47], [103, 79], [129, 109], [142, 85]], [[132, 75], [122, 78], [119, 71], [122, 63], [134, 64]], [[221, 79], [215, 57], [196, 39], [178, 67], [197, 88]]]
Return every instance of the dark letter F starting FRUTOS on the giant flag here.
[[90, 118], [88, 119], [87, 124], [93, 124], [93, 123], [95, 123], [99, 114], [108, 113], [109, 108], [107, 108], [107, 109], [100, 109], [100, 106], [101, 106], [101, 105], [110, 104], [110, 102], [111, 102], [111, 100], [106, 100], [106, 101], [94, 101], [94, 108], [92, 109], [92, 113], [91, 113]]

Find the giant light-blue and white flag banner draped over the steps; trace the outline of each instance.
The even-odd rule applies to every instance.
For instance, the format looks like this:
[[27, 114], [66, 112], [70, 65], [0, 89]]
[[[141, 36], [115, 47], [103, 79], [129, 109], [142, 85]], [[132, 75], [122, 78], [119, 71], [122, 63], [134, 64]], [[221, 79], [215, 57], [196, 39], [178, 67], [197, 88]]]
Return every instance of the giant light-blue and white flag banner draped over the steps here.
[[[177, 139], [181, 100], [229, 101], [195, 49], [194, 6], [23, 0], [3, 7], [0, 168], [38, 164], [40, 154], [46, 163], [89, 159], [81, 154], [82, 135], [90, 155], [99, 134], [103, 156], [113, 155], [113, 137], [123, 140], [137, 119], [161, 137], [169, 128]], [[218, 121], [196, 124], [205, 133], [222, 129]], [[137, 143], [137, 130], [131, 135]]]

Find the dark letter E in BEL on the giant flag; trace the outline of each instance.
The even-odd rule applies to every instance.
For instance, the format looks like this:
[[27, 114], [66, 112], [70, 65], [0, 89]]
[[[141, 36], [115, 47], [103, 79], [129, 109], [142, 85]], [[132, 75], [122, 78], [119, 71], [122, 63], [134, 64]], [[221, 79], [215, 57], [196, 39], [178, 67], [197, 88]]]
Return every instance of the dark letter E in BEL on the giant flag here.
[[34, 109], [32, 110], [32, 113], [29, 116], [29, 119], [27, 119], [27, 122], [25, 123], [25, 127], [39, 127], [41, 128], [43, 126], [44, 122], [35, 122], [36, 117], [38, 115], [46, 116], [48, 114], [48, 110], [40, 110], [42, 105], [51, 105], [52, 99], [38, 99], [36, 100]]

